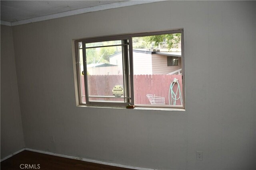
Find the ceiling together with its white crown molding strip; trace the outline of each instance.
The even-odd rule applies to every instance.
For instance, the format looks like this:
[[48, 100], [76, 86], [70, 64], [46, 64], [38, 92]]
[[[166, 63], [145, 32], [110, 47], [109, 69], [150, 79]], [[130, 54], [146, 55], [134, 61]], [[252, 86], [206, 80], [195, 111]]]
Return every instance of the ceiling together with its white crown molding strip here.
[[1, 24], [20, 25], [159, 0], [1, 0]]

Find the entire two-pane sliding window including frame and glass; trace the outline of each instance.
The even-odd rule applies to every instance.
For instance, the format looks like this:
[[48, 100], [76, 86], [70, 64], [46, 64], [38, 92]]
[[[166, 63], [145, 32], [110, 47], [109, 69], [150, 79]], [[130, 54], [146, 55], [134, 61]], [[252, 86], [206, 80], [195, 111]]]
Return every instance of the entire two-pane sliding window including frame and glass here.
[[182, 33], [76, 40], [79, 105], [184, 108]]

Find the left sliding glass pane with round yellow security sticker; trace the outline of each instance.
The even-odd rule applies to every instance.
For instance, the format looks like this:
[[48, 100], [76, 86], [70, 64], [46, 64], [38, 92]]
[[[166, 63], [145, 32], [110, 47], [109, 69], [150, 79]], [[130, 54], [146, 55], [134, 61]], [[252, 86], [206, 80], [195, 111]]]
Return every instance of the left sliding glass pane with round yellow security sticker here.
[[90, 102], [125, 102], [122, 56], [122, 46], [86, 49]]

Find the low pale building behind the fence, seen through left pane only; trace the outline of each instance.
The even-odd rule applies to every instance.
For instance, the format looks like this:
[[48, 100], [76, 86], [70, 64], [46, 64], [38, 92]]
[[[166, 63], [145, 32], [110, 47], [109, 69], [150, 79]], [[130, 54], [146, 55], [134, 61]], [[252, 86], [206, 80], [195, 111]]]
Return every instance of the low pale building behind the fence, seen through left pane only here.
[[95, 63], [87, 65], [89, 75], [117, 75], [118, 66], [107, 63]]

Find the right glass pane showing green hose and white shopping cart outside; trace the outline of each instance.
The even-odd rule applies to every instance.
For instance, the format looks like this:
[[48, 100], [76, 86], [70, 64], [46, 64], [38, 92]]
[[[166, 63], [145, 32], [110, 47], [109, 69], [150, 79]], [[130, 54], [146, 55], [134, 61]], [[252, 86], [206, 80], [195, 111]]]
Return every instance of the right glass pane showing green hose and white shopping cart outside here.
[[132, 41], [135, 104], [183, 106], [181, 33]]

